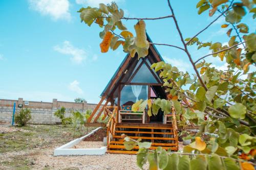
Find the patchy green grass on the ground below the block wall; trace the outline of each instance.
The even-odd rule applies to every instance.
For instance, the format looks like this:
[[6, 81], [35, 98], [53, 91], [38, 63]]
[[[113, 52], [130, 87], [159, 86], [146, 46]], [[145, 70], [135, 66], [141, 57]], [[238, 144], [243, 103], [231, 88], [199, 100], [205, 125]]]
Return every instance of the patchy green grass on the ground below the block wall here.
[[[20, 129], [20, 131], [0, 134], [0, 156], [19, 151], [29, 154], [9, 156], [6, 160], [0, 159], [0, 169], [2, 169], [1, 165], [4, 165], [4, 169], [31, 169], [33, 166], [31, 155], [34, 154], [36, 157], [38, 152], [40, 154], [44, 149], [59, 147], [81, 136], [79, 132], [76, 132], [74, 137], [71, 126], [28, 125]], [[89, 127], [89, 132], [93, 129], [95, 128]]]

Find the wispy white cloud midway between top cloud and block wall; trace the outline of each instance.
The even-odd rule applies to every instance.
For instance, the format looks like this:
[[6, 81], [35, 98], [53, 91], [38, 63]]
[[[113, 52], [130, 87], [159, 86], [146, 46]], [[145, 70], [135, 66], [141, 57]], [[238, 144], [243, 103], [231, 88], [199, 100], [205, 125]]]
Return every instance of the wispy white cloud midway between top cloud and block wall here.
[[72, 57], [70, 59], [77, 64], [82, 63], [87, 58], [86, 51], [73, 46], [70, 41], [63, 41], [61, 46], [54, 46], [54, 50], [61, 54], [71, 55]]

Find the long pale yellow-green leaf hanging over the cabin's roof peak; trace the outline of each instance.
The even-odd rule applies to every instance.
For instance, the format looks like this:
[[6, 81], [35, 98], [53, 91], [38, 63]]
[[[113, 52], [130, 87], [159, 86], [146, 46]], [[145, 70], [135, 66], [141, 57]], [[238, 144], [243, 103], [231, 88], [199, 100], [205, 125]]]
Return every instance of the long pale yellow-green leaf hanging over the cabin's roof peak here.
[[146, 23], [143, 20], [140, 20], [136, 25], [134, 26], [134, 29], [136, 31], [136, 45], [140, 48], [144, 48], [147, 46], [147, 40], [146, 40]]

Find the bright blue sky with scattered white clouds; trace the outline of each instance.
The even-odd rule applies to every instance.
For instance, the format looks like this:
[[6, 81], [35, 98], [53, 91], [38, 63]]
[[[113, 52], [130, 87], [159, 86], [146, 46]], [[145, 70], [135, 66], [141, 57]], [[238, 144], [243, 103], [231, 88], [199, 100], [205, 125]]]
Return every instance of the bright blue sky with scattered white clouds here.
[[[88, 27], [80, 22], [81, 7], [98, 7], [112, 0], [20, 0], [0, 1], [0, 99], [24, 98], [27, 101], [73, 102], [84, 98], [98, 103], [99, 95], [125, 57], [121, 48], [101, 53], [97, 25]], [[170, 15], [167, 1], [116, 0], [126, 17], [160, 17]], [[171, 1], [183, 36], [193, 37], [218, 14], [197, 14], [198, 1]], [[251, 18], [245, 18], [245, 22]], [[123, 21], [135, 34], [137, 20]], [[172, 18], [146, 20], [146, 31], [155, 43], [182, 46]], [[206, 32], [201, 41], [228, 42], [221, 29], [221, 17]], [[249, 22], [255, 32], [255, 22]], [[177, 48], [156, 46], [164, 60], [182, 71], [194, 73], [185, 53]], [[189, 47], [196, 60], [208, 49]], [[219, 58], [207, 57], [217, 68], [225, 69]]]

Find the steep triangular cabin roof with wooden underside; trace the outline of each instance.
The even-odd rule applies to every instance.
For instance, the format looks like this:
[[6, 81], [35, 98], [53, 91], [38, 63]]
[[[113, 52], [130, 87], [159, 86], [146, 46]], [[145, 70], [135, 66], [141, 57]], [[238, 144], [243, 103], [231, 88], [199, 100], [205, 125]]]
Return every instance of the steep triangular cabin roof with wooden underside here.
[[[148, 42], [152, 42], [150, 36], [148, 36], [147, 33], [146, 33], [146, 36], [147, 36]], [[117, 88], [117, 84], [120, 83], [121, 81], [125, 82], [125, 78], [127, 79], [131, 76], [136, 65], [138, 65], [138, 62], [140, 62], [141, 60], [145, 60], [146, 58], [148, 58], [148, 60], [150, 61], [149, 65], [155, 62], [164, 61], [154, 44], [150, 44], [150, 47], [148, 48], [148, 55], [145, 58], [140, 58], [138, 60], [137, 56], [135, 56], [134, 58], [131, 58], [129, 54], [127, 54], [123, 59], [123, 61], [121, 62], [118, 69], [116, 70], [115, 74], [112, 76], [109, 83], [106, 85], [106, 87], [100, 94], [101, 98], [102, 96], [105, 96], [105, 99], [108, 99], [109, 95], [113, 93], [114, 90]], [[127, 74], [129, 76], [126, 76]], [[156, 75], [158, 76], [159, 74], [156, 74]], [[162, 81], [159, 76], [158, 78], [160, 81]]]

